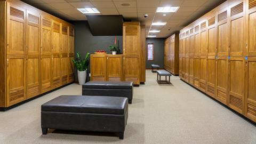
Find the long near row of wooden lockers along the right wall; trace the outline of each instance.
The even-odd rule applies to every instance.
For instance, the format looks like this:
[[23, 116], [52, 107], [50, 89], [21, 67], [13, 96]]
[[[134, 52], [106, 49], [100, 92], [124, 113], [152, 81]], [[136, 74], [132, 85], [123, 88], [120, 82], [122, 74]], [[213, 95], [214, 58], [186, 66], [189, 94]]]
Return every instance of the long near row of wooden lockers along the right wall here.
[[180, 78], [254, 122], [255, 13], [254, 0], [228, 0], [180, 30]]

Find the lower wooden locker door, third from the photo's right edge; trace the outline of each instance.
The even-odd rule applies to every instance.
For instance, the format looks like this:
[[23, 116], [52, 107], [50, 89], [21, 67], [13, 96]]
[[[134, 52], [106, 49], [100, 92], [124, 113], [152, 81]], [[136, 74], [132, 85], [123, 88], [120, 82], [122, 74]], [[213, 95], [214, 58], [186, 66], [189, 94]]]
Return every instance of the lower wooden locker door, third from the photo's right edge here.
[[216, 62], [216, 99], [227, 105], [228, 95], [228, 60], [218, 56]]

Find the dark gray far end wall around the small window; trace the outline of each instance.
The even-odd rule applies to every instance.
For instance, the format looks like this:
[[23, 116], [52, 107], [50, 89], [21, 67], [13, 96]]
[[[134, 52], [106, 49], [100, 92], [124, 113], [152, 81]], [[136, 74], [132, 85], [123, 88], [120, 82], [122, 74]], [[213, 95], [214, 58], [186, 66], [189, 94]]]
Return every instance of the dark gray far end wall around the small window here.
[[154, 60], [146, 61], [146, 68], [151, 68], [152, 64], [157, 64], [160, 68], [164, 68], [164, 41], [165, 38], [147, 38], [146, 39], [146, 47], [147, 43], [154, 44]]

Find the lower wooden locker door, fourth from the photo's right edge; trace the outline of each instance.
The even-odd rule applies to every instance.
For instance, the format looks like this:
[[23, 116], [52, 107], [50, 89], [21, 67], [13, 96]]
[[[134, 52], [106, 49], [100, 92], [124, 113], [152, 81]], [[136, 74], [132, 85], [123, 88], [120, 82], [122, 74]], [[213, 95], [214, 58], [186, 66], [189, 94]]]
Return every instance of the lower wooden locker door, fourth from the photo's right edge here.
[[215, 97], [215, 57], [208, 56], [207, 58], [207, 91], [211, 97]]

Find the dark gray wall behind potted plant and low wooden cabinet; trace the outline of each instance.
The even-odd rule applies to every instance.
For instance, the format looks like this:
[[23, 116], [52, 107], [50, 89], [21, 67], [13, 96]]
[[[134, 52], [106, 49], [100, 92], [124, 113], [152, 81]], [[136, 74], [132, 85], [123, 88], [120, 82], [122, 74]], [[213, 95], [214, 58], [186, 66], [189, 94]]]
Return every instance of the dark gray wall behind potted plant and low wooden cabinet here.
[[[83, 58], [87, 52], [93, 54], [97, 50], [105, 50], [107, 53], [111, 53], [108, 50], [108, 46], [114, 45], [115, 36], [93, 36], [87, 21], [70, 21], [70, 23], [75, 26], [75, 53], [80, 52]], [[122, 52], [123, 36], [117, 36], [117, 40], [119, 41], [119, 48]], [[88, 78], [89, 76], [87, 76]], [[75, 79], [77, 81], [76, 69]]]

